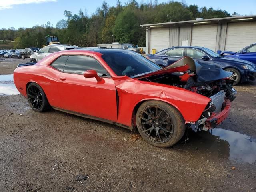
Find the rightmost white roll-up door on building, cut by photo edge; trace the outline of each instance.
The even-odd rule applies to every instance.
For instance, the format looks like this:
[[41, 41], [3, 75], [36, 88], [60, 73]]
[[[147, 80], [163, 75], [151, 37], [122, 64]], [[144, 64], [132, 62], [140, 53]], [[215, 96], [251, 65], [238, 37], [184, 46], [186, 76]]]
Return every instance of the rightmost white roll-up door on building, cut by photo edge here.
[[256, 22], [228, 23], [226, 51], [239, 51], [256, 42]]

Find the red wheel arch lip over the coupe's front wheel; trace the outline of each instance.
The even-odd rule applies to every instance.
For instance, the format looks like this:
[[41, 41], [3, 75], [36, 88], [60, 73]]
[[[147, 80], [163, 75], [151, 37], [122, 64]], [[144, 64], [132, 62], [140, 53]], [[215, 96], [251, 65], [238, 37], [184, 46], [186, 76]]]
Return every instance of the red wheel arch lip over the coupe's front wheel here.
[[[178, 110], [178, 112], [181, 114], [181, 116], [184, 118], [182, 112], [180, 111], [180, 109], [178, 108], [178, 106], [176, 106], [175, 104], [173, 104], [172, 102], [169, 102], [169, 101], [166, 101], [166, 100], [163, 100], [163, 99], [160, 99], [160, 98], [145, 98], [145, 99], [142, 99], [140, 101], [138, 101], [135, 106], [133, 107], [133, 110], [132, 110], [132, 117], [131, 117], [131, 120], [132, 120], [132, 128], [137, 128], [136, 126], [136, 113], [138, 111], [138, 108], [146, 101], [152, 101], [152, 100], [155, 100], [155, 101], [161, 101], [161, 102], [164, 102], [164, 103], [167, 103], [171, 106], [173, 106], [174, 108], [176, 108]], [[134, 126], [134, 127], [133, 127]]]

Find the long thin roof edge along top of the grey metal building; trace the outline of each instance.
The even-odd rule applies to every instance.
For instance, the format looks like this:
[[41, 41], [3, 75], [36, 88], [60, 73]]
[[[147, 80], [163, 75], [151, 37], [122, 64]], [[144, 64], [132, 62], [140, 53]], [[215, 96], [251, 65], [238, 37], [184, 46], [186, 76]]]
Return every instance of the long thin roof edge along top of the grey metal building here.
[[165, 23], [153, 23], [153, 24], [143, 24], [140, 26], [147, 26], [147, 27], [163, 27], [163, 26], [170, 26], [175, 24], [209, 24], [210, 22], [241, 22], [241, 21], [255, 21], [256, 15], [249, 15], [249, 16], [233, 16], [233, 17], [222, 17], [222, 18], [212, 18], [212, 19], [201, 19], [201, 20], [189, 20], [189, 21], [177, 21], [177, 22], [165, 22]]

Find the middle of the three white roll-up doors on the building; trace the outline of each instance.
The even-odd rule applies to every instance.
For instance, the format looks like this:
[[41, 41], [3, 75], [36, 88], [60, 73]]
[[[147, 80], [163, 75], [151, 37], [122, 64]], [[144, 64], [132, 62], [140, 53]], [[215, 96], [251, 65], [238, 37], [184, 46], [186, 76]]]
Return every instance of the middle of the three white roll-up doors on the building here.
[[206, 47], [216, 51], [217, 24], [212, 25], [193, 25], [191, 46]]

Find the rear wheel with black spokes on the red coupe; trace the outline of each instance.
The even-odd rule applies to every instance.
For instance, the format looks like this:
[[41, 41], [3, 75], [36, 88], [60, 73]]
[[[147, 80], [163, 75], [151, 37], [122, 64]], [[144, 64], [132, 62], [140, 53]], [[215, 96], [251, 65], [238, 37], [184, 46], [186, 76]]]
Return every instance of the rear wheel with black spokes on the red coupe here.
[[44, 112], [50, 108], [44, 90], [36, 83], [30, 83], [27, 88], [27, 99], [35, 112]]

